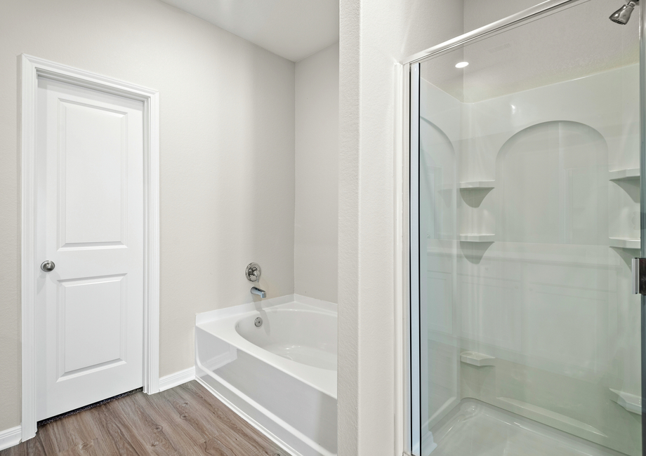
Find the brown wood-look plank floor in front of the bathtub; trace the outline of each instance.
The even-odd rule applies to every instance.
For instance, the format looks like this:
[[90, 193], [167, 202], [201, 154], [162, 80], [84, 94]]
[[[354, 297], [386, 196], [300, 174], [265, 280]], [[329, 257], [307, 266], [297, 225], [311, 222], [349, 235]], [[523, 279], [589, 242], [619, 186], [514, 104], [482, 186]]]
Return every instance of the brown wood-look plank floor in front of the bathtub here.
[[0, 451], [23, 455], [289, 456], [195, 380], [61, 418]]

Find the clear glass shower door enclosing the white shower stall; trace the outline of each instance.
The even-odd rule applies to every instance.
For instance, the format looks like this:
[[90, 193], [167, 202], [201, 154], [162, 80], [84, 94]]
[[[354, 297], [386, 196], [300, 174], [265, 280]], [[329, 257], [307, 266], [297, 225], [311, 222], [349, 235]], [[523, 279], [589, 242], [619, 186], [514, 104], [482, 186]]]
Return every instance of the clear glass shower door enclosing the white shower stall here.
[[642, 455], [641, 12], [618, 6], [411, 65], [414, 455]]

